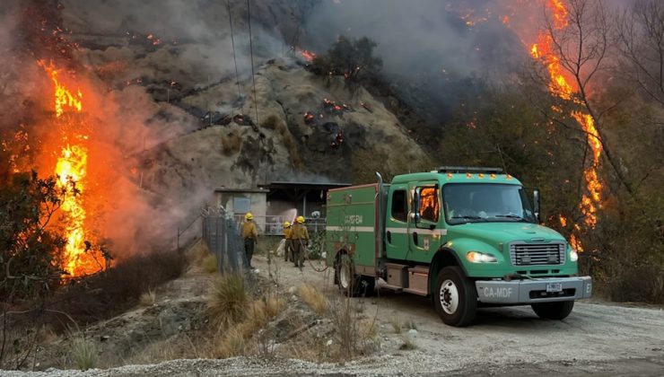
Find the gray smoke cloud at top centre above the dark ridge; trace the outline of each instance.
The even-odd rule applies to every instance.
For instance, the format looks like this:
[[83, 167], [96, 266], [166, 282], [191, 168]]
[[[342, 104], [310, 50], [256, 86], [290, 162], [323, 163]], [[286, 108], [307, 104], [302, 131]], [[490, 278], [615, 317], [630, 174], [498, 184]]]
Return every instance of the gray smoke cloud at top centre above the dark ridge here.
[[[504, 79], [526, 61], [526, 48], [503, 23], [514, 21], [511, 3], [323, 1], [307, 19], [303, 43], [324, 52], [342, 34], [375, 40], [383, 72], [398, 83], [399, 94], [438, 123], [446, 110], [472, 94], [475, 79]], [[535, 4], [520, 6], [526, 8], [521, 16], [538, 9]]]

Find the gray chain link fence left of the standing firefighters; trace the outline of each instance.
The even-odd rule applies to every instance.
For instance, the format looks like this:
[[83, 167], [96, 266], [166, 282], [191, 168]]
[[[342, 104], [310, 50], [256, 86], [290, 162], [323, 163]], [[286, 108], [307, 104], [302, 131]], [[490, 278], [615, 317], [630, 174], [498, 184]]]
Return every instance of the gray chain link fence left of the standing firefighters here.
[[232, 215], [226, 215], [222, 209], [204, 210], [203, 241], [217, 259], [220, 272], [240, 272], [247, 266], [244, 255], [244, 243], [240, 237], [240, 225]]

